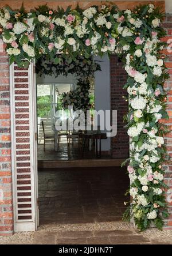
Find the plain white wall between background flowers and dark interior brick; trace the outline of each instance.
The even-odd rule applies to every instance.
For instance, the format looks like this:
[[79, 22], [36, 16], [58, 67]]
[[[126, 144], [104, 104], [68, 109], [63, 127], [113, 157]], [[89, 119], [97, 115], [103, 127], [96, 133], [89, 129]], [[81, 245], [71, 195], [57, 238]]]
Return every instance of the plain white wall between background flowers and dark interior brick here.
[[[101, 71], [95, 73], [95, 110], [111, 110], [110, 103], [110, 59], [107, 56], [103, 58], [96, 57], [100, 61]], [[99, 125], [99, 123], [98, 123]], [[102, 140], [102, 150], [111, 149], [110, 138]]]

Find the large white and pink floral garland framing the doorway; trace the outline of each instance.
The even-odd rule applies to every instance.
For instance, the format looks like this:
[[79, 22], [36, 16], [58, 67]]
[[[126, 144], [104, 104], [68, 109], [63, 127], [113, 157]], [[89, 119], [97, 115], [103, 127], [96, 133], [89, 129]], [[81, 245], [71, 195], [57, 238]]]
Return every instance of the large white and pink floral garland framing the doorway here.
[[0, 11], [2, 39], [10, 63], [15, 61], [18, 66], [42, 55], [55, 63], [61, 58], [57, 54], [69, 62], [79, 55], [126, 55], [132, 204], [124, 217], [134, 216], [140, 230], [152, 223], [161, 229], [162, 219], [167, 217], [162, 168], [166, 157], [163, 134], [167, 130], [158, 122], [168, 118], [163, 85], [169, 76], [161, 53], [165, 43], [159, 40], [166, 35], [162, 19], [153, 4], [123, 11], [114, 5], [86, 10], [40, 6], [30, 13], [5, 7]]

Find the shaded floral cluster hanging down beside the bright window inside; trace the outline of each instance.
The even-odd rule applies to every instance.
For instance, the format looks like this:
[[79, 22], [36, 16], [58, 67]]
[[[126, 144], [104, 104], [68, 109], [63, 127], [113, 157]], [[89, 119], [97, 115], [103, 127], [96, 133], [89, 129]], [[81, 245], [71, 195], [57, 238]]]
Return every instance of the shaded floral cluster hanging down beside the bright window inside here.
[[62, 93], [62, 107], [68, 109], [68, 106], [72, 106], [74, 111], [83, 110], [86, 113], [91, 109], [89, 89], [89, 78], [78, 79], [75, 90]]

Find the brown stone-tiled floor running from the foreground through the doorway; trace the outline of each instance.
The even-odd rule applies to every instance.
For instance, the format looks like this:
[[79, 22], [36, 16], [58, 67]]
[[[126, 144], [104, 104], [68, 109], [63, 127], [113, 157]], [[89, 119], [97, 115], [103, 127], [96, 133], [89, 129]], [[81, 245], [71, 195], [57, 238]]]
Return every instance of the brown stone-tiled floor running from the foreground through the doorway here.
[[172, 244], [172, 230], [140, 233], [122, 221], [126, 168], [38, 172], [40, 227], [0, 244]]

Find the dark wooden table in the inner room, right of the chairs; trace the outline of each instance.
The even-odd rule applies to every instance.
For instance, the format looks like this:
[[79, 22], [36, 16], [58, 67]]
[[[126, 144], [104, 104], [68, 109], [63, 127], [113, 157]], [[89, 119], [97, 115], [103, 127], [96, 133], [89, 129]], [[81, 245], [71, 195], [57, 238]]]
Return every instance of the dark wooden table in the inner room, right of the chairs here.
[[[95, 147], [96, 147], [96, 156], [101, 157], [101, 140], [107, 139], [106, 133], [81, 133], [79, 134], [79, 138], [83, 139], [83, 156], [84, 156], [84, 150], [85, 150], [85, 142], [86, 140], [92, 140], [95, 141]], [[98, 143], [99, 140], [99, 154], [98, 154]]]

